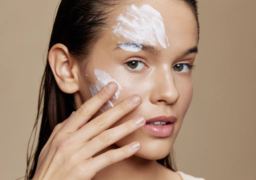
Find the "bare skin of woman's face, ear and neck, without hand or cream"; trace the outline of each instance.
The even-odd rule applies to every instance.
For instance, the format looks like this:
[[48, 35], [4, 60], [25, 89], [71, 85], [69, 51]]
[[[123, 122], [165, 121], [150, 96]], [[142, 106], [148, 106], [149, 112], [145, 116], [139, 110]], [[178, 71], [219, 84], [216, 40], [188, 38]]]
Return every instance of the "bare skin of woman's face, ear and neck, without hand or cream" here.
[[[192, 100], [191, 70], [179, 72], [172, 68], [176, 64], [194, 63], [195, 52], [183, 54], [198, 44], [196, 19], [191, 8], [183, 1], [140, 1], [132, 4], [138, 7], [149, 4], [160, 12], [169, 39], [169, 47], [164, 49], [160, 44], [154, 46], [160, 51], [158, 54], [144, 50], [129, 52], [118, 49], [118, 41], [112, 39], [114, 35], [112, 29], [109, 28], [96, 44], [86, 66], [71, 57], [63, 44], [55, 44], [51, 48], [49, 62], [59, 88], [65, 93], [74, 94], [77, 108], [91, 98], [89, 85], [97, 80], [94, 69], [104, 70], [122, 86], [123, 90], [119, 99], [111, 100], [114, 105], [133, 94], [141, 97], [141, 105], [110, 128], [140, 115], [146, 120], [159, 115], [177, 117], [174, 131], [170, 136], [156, 137], [140, 128], [95, 154], [93, 157], [108, 150], [123, 147], [133, 141], [141, 143], [141, 149], [135, 155], [104, 168], [93, 177], [94, 180], [181, 179], [177, 173], [157, 163], [156, 160], [164, 158], [172, 149]], [[121, 13], [125, 11], [126, 8], [122, 7]], [[119, 14], [120, 12], [113, 14], [114, 19]], [[140, 64], [141, 70], [137, 72], [131, 72], [132, 69], [126, 64], [134, 58], [146, 63]], [[98, 110], [91, 119], [101, 113]]]

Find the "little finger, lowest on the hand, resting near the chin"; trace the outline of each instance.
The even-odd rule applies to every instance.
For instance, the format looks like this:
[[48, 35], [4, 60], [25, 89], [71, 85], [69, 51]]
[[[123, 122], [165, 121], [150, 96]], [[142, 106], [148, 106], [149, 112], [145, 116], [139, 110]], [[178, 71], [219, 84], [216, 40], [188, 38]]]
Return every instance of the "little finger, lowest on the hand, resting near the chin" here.
[[100, 170], [108, 167], [111, 164], [129, 158], [133, 154], [135, 154], [138, 150], [140, 150], [141, 144], [138, 141], [133, 143], [127, 144], [122, 148], [109, 150], [103, 154], [100, 154], [90, 160], [84, 161], [82, 164], [82, 168], [86, 168], [89, 171], [84, 172], [91, 172], [97, 173]]

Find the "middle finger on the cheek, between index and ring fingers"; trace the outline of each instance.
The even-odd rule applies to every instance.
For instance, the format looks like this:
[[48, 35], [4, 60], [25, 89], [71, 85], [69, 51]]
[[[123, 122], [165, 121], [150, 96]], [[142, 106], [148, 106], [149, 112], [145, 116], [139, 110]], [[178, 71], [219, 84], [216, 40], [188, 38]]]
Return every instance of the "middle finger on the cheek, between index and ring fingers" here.
[[85, 126], [81, 127], [78, 131], [74, 132], [74, 136], [81, 137], [79, 138], [79, 140], [81, 140], [82, 142], [86, 142], [94, 138], [102, 131], [112, 126], [123, 116], [138, 107], [141, 102], [142, 99], [139, 95], [133, 95], [122, 100], [121, 103], [100, 114], [99, 116], [88, 122]]

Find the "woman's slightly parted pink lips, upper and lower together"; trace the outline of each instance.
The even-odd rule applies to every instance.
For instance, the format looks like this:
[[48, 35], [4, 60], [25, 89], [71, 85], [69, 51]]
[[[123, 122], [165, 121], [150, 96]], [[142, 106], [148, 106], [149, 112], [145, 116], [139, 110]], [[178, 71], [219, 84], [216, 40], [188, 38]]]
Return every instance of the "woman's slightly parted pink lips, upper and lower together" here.
[[166, 136], [170, 136], [173, 133], [174, 130], [174, 123], [177, 120], [177, 118], [175, 116], [157, 116], [151, 119], [146, 120], [146, 123], [149, 122], [155, 122], [155, 121], [166, 121], [166, 122], [170, 122], [167, 125], [164, 126], [158, 126], [158, 125], [149, 125], [149, 124], [145, 124], [143, 126], [143, 129], [149, 131], [151, 134], [158, 136], [158, 137], [166, 137]]

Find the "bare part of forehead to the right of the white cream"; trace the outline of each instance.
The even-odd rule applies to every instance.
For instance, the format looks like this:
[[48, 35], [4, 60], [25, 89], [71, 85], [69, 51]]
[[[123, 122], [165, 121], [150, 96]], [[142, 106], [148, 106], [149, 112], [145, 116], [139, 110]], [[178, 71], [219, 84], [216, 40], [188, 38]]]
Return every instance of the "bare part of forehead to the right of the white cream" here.
[[161, 13], [170, 46], [195, 46], [198, 43], [198, 27], [192, 8], [184, 1], [168, 0], [153, 3]]

